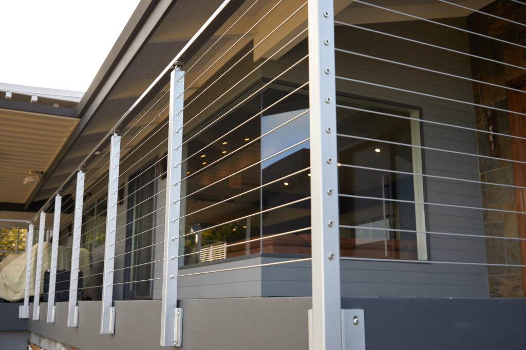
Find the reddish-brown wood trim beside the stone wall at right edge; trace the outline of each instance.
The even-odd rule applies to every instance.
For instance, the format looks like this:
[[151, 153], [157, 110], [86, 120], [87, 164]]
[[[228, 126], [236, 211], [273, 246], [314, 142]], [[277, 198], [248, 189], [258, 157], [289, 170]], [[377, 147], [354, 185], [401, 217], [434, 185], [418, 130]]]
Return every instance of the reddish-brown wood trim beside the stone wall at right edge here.
[[[526, 75], [510, 80], [508, 86], [515, 89], [526, 90]], [[526, 118], [523, 115], [515, 114], [515, 112], [524, 113], [523, 106], [526, 105], [526, 98], [524, 94], [508, 90], [508, 110], [510, 122], [510, 134], [513, 136], [526, 136]], [[512, 159], [526, 162], [526, 140], [511, 139], [511, 154]], [[526, 164], [513, 163], [513, 177], [515, 186], [526, 187]], [[526, 189], [515, 188], [515, 201], [517, 203], [517, 211], [526, 212]], [[526, 214], [517, 214], [519, 238], [526, 239]], [[520, 241], [521, 250], [521, 264], [526, 265], [526, 241]], [[522, 268], [522, 284], [523, 291], [526, 295], [526, 268]]]

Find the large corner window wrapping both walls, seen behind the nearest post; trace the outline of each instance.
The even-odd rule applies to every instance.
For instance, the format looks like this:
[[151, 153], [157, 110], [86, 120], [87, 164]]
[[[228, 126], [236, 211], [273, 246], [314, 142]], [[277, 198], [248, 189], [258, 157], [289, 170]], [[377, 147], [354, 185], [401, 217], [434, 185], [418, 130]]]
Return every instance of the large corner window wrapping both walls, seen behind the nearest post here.
[[[185, 264], [310, 254], [310, 201], [302, 200], [310, 195], [309, 97], [294, 89], [271, 84], [225, 118], [248, 92], [185, 135]], [[354, 196], [340, 201], [348, 226], [341, 254], [427, 259], [425, 234], [416, 233], [425, 231], [423, 205], [397, 201], [423, 201], [422, 177], [412, 175], [422, 173], [412, 147], [420, 145], [419, 111], [344, 96], [338, 103], [355, 108], [338, 111], [338, 133], [349, 136], [338, 140], [340, 192]]]

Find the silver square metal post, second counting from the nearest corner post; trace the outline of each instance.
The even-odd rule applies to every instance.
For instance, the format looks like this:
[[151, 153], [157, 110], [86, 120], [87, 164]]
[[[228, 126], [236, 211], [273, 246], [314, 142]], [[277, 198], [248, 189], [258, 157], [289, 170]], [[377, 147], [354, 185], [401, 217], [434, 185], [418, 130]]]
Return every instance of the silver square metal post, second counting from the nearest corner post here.
[[[183, 310], [177, 309], [179, 217], [181, 195], [181, 152], [183, 147], [184, 71], [175, 67], [170, 74], [170, 114], [168, 122], [168, 166], [166, 173], [166, 217], [161, 306], [161, 346], [181, 346]], [[179, 113], [179, 114], [177, 114]], [[179, 147], [179, 148], [177, 148]]]

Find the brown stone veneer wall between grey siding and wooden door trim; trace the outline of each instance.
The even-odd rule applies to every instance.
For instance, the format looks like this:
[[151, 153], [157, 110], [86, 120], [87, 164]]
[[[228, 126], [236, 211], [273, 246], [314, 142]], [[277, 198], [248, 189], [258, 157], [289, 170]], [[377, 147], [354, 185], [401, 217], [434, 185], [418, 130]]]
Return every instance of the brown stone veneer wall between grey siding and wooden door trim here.
[[[495, 1], [481, 9], [499, 17], [526, 23], [526, 6], [510, 1]], [[489, 35], [521, 45], [526, 44], [526, 27], [480, 13], [468, 16], [468, 28], [476, 33]], [[471, 54], [526, 67], [526, 50], [510, 44], [500, 43], [477, 35], [470, 35]], [[505, 86], [511, 79], [526, 74], [526, 70], [507, 67], [481, 59], [471, 59], [474, 79]], [[483, 105], [508, 109], [507, 90], [473, 83], [474, 101]], [[509, 134], [507, 112], [497, 112], [498, 132]], [[485, 109], [476, 108], [477, 129], [488, 130]], [[526, 135], [525, 135], [526, 136]], [[477, 133], [478, 152], [490, 155], [488, 134]], [[499, 136], [500, 158], [511, 159], [510, 137]], [[513, 165], [504, 160], [479, 158], [481, 181], [514, 184]], [[482, 205], [485, 208], [517, 210], [515, 190], [511, 187], [481, 185]], [[486, 235], [518, 237], [517, 214], [498, 211], [484, 211]], [[521, 264], [518, 240], [486, 239], [488, 263]], [[488, 267], [489, 292], [493, 297], [515, 298], [524, 296], [521, 268]]]

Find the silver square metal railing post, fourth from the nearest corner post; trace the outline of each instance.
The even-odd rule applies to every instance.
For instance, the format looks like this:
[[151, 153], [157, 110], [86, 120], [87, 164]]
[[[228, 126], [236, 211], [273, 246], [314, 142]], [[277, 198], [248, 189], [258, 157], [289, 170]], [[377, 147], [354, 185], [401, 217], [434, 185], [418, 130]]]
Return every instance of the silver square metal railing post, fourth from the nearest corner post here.
[[71, 247], [71, 273], [69, 278], [69, 303], [67, 326], [78, 326], [78, 264], [80, 260], [80, 234], [82, 232], [82, 207], [84, 204], [84, 172], [77, 173], [77, 188], [75, 190], [75, 217], [73, 218], [73, 244]]

